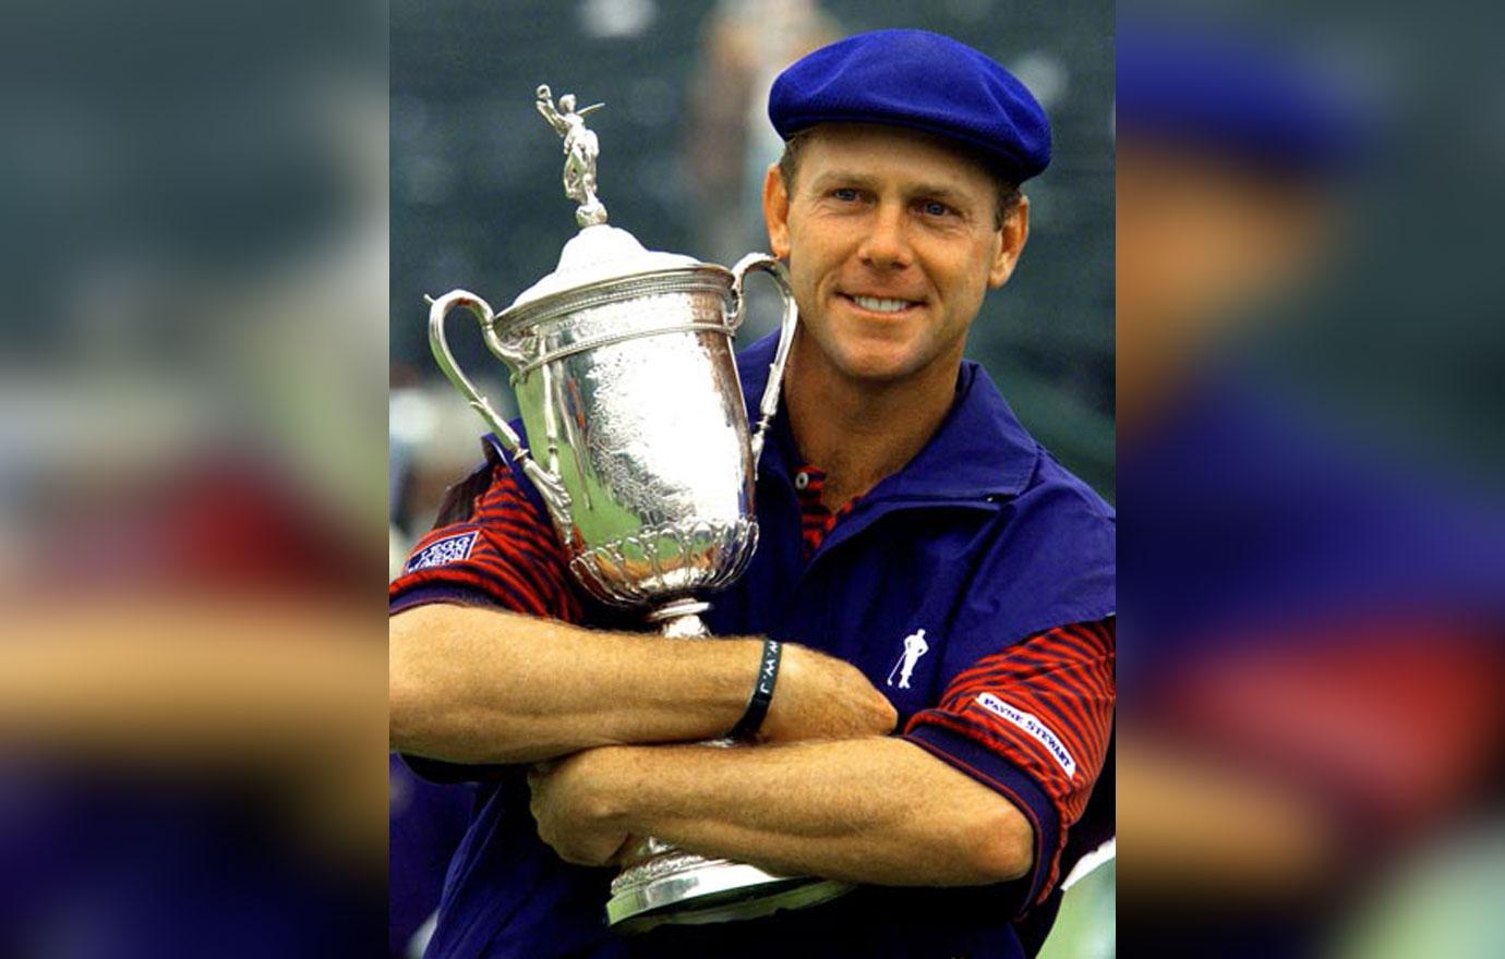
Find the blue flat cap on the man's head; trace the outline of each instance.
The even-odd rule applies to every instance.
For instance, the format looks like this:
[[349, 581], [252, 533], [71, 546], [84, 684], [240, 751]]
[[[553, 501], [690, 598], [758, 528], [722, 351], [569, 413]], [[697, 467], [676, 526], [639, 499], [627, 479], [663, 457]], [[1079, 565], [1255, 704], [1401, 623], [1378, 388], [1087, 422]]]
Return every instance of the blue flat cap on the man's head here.
[[789, 140], [816, 123], [908, 126], [971, 147], [1016, 183], [1050, 162], [1050, 120], [1025, 84], [939, 33], [859, 33], [774, 81], [768, 119]]

